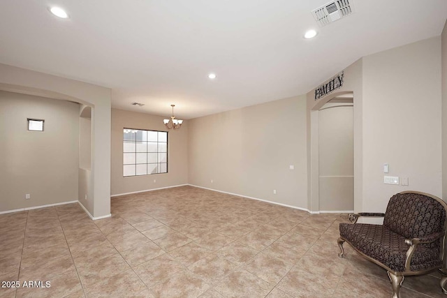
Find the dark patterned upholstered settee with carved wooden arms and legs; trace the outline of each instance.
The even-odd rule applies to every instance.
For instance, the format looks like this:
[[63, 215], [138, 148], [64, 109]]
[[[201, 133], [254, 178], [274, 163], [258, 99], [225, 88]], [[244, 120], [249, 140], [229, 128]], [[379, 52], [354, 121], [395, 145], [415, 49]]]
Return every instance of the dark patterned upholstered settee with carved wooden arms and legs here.
[[[439, 269], [440, 285], [447, 295], [447, 204], [427, 193], [404, 191], [390, 198], [385, 214], [349, 214], [340, 223], [339, 257], [346, 241], [360, 255], [388, 271], [393, 298], [399, 297], [404, 276]], [[360, 216], [383, 216], [383, 225], [357, 223]]]

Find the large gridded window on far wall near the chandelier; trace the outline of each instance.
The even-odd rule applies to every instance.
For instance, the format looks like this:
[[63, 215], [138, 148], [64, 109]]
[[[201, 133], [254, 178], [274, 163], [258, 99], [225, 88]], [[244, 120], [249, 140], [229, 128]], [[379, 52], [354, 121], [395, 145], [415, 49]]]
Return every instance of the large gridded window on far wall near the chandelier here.
[[168, 172], [168, 133], [124, 128], [123, 176]]

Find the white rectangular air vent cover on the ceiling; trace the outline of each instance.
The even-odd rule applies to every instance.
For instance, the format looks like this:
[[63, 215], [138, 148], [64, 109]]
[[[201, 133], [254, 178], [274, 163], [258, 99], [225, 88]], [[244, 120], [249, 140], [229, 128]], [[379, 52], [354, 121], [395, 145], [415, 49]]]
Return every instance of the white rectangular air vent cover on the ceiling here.
[[335, 0], [312, 10], [312, 15], [321, 27], [340, 20], [346, 15], [351, 15], [351, 13], [353, 13], [352, 0]]

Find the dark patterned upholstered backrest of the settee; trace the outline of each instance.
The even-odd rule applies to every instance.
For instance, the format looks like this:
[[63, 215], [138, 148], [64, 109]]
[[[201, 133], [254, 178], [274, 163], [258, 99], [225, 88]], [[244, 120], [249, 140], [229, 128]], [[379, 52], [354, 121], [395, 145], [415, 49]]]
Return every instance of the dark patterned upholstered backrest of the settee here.
[[390, 198], [383, 225], [409, 239], [426, 237], [444, 230], [446, 209], [434, 195], [404, 191]]

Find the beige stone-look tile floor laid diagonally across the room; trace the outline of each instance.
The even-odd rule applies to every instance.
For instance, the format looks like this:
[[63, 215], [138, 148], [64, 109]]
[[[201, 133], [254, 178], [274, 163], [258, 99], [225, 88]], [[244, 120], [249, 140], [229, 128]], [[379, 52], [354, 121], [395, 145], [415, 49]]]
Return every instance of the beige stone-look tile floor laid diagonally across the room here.
[[[91, 221], [78, 204], [0, 215], [0, 297], [391, 297], [386, 271], [346, 246], [345, 214], [182, 186], [112, 198]], [[443, 297], [437, 274], [401, 297]]]

